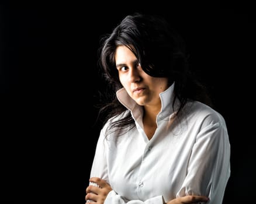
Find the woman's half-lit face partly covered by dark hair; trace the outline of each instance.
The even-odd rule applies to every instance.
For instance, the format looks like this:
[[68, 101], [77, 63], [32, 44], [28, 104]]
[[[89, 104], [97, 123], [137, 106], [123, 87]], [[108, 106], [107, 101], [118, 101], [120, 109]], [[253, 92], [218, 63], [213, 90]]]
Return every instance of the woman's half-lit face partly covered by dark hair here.
[[116, 48], [115, 61], [120, 82], [137, 104], [161, 104], [159, 94], [168, 88], [167, 78], [147, 75], [133, 52], [124, 45]]

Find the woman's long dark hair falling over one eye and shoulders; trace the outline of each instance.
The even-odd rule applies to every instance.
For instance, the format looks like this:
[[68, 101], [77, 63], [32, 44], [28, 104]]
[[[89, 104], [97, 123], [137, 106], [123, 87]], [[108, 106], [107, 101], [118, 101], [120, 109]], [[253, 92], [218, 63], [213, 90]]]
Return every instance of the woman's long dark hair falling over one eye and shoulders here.
[[[106, 82], [99, 108], [99, 118], [103, 119], [103, 124], [127, 110], [116, 97], [116, 91], [122, 87], [115, 64], [115, 52], [119, 45], [125, 45], [133, 52], [148, 75], [168, 78], [169, 85], [175, 82], [172, 106], [178, 99], [180, 105], [176, 110], [177, 115], [188, 100], [211, 105], [205, 86], [188, 69], [188, 57], [182, 37], [163, 17], [134, 13], [124, 17], [112, 33], [101, 40], [99, 66], [103, 73], [102, 79]], [[133, 128], [134, 120], [130, 112], [113, 122], [109, 129], [113, 127]]]

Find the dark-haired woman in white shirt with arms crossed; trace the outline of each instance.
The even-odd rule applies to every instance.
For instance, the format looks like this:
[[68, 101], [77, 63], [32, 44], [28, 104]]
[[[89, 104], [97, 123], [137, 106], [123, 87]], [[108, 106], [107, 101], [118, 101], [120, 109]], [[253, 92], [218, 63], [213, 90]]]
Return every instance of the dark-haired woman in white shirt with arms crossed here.
[[230, 177], [226, 123], [188, 70], [184, 41], [160, 16], [124, 17], [103, 38], [112, 92], [85, 199], [219, 204]]

